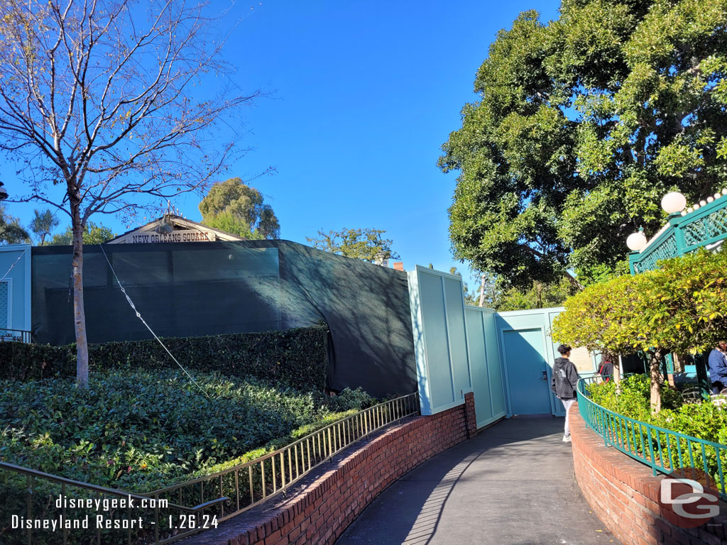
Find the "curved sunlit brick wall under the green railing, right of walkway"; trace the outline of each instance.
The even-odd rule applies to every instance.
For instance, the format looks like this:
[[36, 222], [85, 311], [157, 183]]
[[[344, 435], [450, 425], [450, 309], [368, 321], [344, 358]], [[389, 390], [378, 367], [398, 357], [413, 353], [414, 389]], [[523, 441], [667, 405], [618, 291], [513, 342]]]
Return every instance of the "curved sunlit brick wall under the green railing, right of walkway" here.
[[678, 528], [664, 519], [659, 507], [659, 484], [651, 468], [616, 448], [585, 425], [578, 405], [570, 412], [573, 465], [586, 501], [623, 545], [727, 544], [727, 504], [720, 515], [700, 528]]

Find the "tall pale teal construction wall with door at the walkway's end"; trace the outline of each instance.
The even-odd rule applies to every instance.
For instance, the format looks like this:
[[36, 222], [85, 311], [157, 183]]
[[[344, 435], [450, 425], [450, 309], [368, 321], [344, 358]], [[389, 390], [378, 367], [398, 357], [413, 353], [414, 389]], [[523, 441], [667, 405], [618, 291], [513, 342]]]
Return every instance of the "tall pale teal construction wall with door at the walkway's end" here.
[[[465, 306], [462, 278], [426, 267], [408, 274], [422, 414], [464, 403], [474, 392], [478, 427], [503, 416], [565, 416], [550, 391], [558, 344], [550, 330], [562, 307], [495, 312]], [[585, 349], [571, 360], [592, 374]]]

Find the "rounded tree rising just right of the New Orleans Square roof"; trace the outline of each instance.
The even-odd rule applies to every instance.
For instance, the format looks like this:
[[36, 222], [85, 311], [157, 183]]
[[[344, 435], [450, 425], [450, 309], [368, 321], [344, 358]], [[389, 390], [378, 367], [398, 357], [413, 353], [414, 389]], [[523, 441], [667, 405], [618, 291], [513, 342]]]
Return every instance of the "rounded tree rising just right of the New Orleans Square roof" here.
[[273, 207], [263, 203], [260, 191], [240, 178], [212, 185], [199, 203], [202, 223], [245, 238], [280, 238], [280, 223]]

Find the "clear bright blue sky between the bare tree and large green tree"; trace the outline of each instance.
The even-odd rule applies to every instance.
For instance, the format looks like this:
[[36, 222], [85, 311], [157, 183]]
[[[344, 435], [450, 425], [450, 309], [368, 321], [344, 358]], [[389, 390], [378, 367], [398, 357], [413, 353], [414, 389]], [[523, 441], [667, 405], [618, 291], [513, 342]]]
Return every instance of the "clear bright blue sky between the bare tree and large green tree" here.
[[[228, 17], [242, 20], [225, 59], [241, 89], [268, 97], [236, 119], [244, 123], [237, 144], [250, 151], [230, 177], [276, 169], [252, 185], [273, 206], [282, 238], [305, 243], [319, 229], [385, 229], [407, 270], [431, 262], [467, 278], [447, 235], [455, 176], [436, 161], [459, 128], [462, 105], [476, 98], [475, 72], [489, 44], [526, 9], [558, 16], [558, 2], [542, 0], [234, 4]], [[0, 177], [11, 194], [22, 192], [12, 166], [0, 165]], [[188, 196], [174, 204], [199, 220], [197, 203]], [[8, 203], [8, 211], [27, 223], [33, 205]], [[94, 220], [127, 229], [111, 217]]]

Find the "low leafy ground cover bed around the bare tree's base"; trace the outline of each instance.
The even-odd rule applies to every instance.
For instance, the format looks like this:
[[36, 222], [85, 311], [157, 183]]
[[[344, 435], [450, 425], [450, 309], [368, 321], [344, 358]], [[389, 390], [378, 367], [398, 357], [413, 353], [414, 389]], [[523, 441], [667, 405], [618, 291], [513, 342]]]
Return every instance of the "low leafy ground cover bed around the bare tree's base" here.
[[193, 376], [204, 393], [180, 370], [131, 367], [92, 374], [89, 389], [74, 388], [72, 378], [0, 382], [0, 459], [150, 491], [272, 440], [284, 445], [302, 433], [295, 429], [370, 402], [361, 392], [335, 401], [254, 377]]

